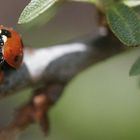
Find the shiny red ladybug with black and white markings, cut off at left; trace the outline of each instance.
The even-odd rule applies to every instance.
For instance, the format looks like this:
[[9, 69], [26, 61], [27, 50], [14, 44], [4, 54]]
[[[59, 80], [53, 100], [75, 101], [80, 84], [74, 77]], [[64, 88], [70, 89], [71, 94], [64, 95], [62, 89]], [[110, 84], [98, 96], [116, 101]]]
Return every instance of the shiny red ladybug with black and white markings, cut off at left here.
[[12, 28], [0, 26], [0, 65], [6, 62], [17, 69], [23, 59], [23, 43], [20, 35]]

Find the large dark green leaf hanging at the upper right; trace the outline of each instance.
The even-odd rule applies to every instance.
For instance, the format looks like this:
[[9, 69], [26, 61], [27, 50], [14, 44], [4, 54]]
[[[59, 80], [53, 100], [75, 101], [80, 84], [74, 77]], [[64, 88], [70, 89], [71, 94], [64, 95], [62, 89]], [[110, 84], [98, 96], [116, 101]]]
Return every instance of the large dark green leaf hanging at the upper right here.
[[107, 20], [114, 34], [127, 46], [140, 45], [140, 17], [123, 3], [107, 9]]

